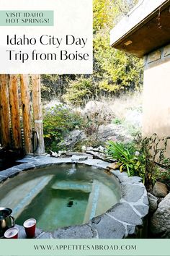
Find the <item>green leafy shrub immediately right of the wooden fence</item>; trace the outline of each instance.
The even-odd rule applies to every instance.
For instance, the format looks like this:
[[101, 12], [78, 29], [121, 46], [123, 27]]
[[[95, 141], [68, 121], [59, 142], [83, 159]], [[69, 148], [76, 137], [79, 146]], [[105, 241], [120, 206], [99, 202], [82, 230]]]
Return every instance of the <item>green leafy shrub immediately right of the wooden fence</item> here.
[[64, 150], [58, 144], [67, 132], [81, 127], [81, 116], [63, 105], [55, 105], [43, 111], [45, 150]]

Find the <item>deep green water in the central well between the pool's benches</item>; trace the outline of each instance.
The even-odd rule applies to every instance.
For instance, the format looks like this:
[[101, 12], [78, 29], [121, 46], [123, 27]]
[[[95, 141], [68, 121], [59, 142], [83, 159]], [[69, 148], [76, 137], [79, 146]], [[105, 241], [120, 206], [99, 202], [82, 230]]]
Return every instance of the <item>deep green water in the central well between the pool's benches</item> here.
[[45, 231], [81, 224], [88, 198], [89, 193], [74, 189], [53, 189], [48, 184], [19, 215], [17, 223], [22, 225], [24, 220], [34, 216], [37, 227]]

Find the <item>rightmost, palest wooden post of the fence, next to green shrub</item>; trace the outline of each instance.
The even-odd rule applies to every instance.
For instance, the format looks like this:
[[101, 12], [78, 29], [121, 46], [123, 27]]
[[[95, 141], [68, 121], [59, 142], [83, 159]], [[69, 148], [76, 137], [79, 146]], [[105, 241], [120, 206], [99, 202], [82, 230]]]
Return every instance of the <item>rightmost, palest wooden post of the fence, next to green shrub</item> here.
[[35, 132], [39, 137], [37, 154], [45, 153], [43, 126], [42, 126], [42, 104], [41, 104], [41, 89], [40, 89], [40, 74], [32, 74], [32, 108], [35, 124]]

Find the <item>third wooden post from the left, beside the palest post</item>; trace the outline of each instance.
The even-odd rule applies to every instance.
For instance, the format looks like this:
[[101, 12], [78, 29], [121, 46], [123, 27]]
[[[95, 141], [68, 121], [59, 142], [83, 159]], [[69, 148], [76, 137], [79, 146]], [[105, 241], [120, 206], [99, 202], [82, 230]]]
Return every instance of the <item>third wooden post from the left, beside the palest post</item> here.
[[29, 77], [27, 74], [20, 74], [21, 81], [21, 100], [22, 100], [22, 116], [24, 127], [24, 148], [25, 153], [32, 152], [32, 124], [31, 124], [31, 106], [30, 106], [30, 90]]

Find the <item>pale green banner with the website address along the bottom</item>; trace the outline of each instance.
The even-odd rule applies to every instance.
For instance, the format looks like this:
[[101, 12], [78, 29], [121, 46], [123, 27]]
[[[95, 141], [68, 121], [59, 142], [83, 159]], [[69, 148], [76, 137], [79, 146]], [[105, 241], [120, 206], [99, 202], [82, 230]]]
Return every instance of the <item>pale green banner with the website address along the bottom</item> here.
[[170, 256], [170, 239], [1, 239], [0, 256]]

